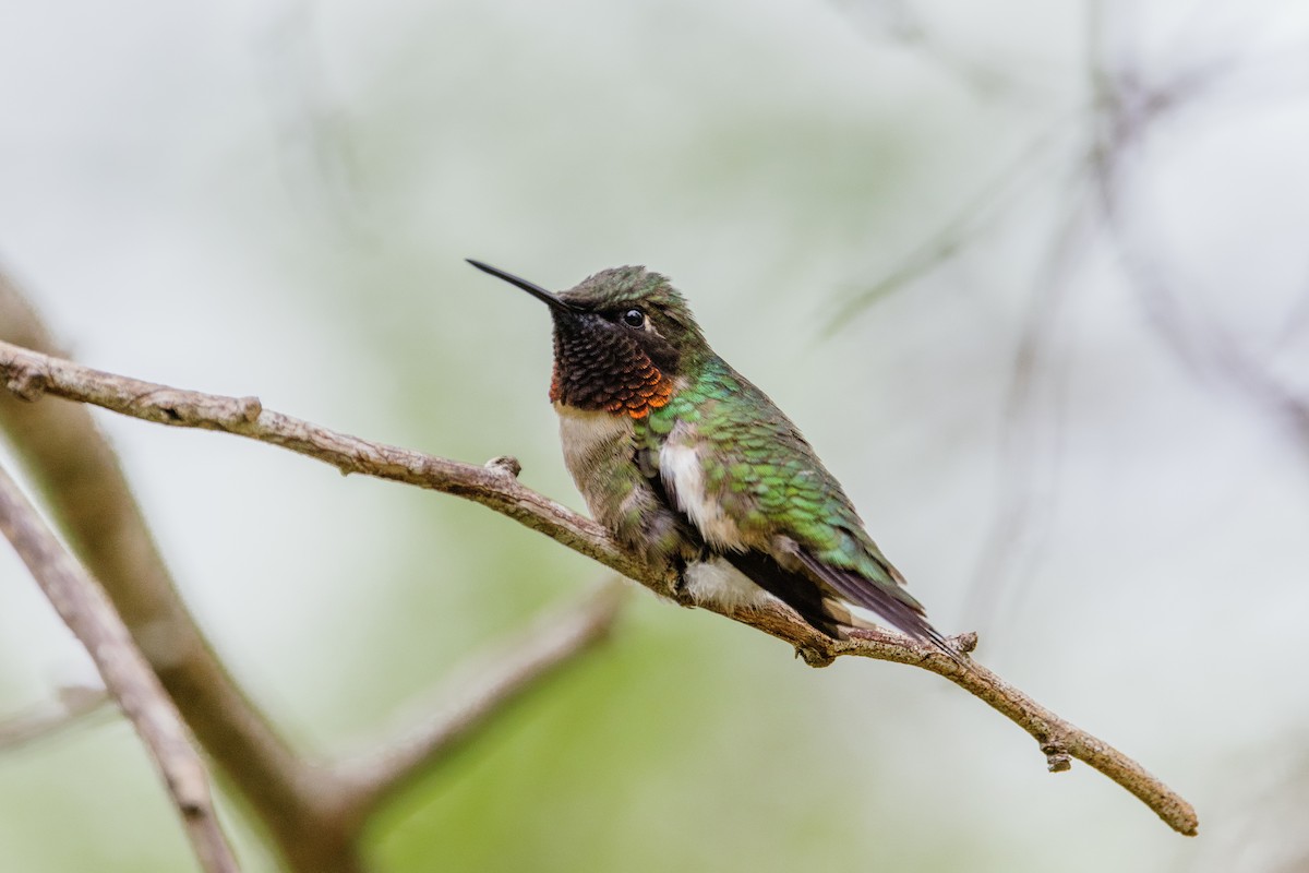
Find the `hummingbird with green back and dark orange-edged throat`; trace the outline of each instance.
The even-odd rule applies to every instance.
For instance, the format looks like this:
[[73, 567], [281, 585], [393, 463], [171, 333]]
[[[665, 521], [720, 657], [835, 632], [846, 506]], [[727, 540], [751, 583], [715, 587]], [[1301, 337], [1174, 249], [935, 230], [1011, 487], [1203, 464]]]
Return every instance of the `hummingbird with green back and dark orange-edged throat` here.
[[695, 603], [772, 597], [833, 639], [881, 619], [959, 658], [800, 428], [713, 352], [665, 276], [615, 267], [554, 293], [469, 263], [550, 308], [564, 463], [623, 548], [673, 565]]

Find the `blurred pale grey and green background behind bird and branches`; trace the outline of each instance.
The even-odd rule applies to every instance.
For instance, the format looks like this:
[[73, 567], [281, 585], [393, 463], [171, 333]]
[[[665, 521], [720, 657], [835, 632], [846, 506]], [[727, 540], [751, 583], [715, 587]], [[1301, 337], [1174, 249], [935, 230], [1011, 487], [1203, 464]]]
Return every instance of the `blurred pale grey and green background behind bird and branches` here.
[[[639, 593], [376, 822], [378, 870], [1309, 870], [1309, 7], [1143, 7], [9, 3], [0, 263], [86, 364], [514, 454], [579, 509], [548, 318], [462, 259], [660, 270], [935, 623], [1200, 814], [1046, 774], [936, 677]], [[601, 575], [453, 497], [99, 420], [309, 754]], [[0, 550], [0, 719], [90, 675]], [[192, 866], [123, 721], [0, 754], [0, 869]]]

